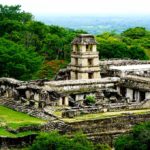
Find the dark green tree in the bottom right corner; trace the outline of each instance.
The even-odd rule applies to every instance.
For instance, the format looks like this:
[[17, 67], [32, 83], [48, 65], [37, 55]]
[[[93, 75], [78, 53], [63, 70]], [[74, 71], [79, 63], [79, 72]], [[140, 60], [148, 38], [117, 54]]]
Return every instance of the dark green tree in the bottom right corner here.
[[132, 133], [122, 135], [115, 140], [116, 150], [149, 150], [150, 149], [150, 122], [136, 125]]

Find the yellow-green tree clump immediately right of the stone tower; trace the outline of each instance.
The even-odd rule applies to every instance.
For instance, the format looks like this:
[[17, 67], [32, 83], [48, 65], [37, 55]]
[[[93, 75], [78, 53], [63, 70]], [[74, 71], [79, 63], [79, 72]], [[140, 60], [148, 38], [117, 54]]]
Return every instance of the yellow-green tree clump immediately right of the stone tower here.
[[144, 48], [130, 38], [104, 33], [96, 37], [100, 58], [147, 59]]

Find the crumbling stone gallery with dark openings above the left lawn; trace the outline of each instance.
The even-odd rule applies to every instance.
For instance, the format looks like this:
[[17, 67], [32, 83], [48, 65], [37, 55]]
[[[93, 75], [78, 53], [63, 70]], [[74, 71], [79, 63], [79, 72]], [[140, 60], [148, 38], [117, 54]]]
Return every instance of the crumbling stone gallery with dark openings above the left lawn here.
[[23, 105], [43, 108], [46, 105], [58, 105], [62, 96], [50, 87], [43, 86], [45, 81], [18, 81], [12, 78], [0, 78], [0, 97], [21, 101]]

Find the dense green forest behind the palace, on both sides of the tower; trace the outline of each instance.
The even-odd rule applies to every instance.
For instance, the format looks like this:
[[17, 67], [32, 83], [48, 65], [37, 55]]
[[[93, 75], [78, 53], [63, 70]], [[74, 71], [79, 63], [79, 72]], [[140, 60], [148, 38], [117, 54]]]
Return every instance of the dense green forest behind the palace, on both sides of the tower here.
[[[21, 6], [0, 5], [0, 76], [49, 78], [70, 61], [71, 41], [86, 33], [34, 20]], [[101, 59], [150, 59], [150, 31], [130, 28], [96, 36]]]

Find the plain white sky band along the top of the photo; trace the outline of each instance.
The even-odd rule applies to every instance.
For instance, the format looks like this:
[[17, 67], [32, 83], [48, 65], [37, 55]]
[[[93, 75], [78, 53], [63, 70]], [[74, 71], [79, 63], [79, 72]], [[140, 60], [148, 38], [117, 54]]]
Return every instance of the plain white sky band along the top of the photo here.
[[36, 15], [150, 15], [150, 0], [0, 0]]

